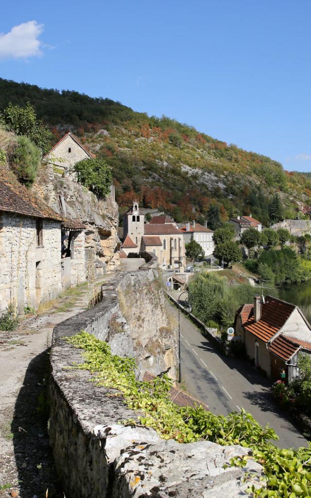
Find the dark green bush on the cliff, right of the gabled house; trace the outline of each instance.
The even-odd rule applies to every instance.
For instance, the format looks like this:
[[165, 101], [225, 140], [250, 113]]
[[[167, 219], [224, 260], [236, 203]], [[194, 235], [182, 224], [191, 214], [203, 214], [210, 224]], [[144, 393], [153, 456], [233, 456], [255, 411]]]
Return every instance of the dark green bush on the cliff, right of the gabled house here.
[[78, 181], [99, 196], [109, 192], [112, 182], [111, 169], [104, 159], [83, 159], [75, 164]]

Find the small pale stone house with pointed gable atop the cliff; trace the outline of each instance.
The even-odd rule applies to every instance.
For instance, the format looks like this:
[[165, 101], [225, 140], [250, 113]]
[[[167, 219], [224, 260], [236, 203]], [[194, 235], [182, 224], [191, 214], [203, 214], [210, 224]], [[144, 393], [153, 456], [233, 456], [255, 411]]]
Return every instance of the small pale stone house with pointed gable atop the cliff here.
[[92, 159], [93, 157], [95, 157], [94, 154], [73, 133], [69, 132], [54, 145], [44, 159], [51, 160], [55, 171], [61, 176], [74, 177], [74, 165], [83, 159]]

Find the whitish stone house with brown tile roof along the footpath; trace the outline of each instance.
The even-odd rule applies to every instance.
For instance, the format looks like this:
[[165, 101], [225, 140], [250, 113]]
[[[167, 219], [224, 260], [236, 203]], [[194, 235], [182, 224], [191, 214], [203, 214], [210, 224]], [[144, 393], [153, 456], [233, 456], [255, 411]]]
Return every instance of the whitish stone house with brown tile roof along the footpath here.
[[84, 227], [0, 173], [0, 313], [22, 312], [86, 279]]

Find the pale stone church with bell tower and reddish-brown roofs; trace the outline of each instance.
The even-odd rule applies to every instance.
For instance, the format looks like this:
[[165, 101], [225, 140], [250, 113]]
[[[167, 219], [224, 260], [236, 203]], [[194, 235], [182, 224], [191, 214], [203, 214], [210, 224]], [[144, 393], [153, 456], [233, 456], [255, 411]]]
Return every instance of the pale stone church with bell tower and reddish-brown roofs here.
[[134, 201], [123, 215], [124, 240], [121, 251], [126, 256], [130, 252], [152, 252], [163, 268], [181, 270], [186, 264], [184, 239], [173, 220], [155, 218], [161, 218], [160, 221], [164, 223], [144, 223], [144, 215], [140, 214], [138, 202]]

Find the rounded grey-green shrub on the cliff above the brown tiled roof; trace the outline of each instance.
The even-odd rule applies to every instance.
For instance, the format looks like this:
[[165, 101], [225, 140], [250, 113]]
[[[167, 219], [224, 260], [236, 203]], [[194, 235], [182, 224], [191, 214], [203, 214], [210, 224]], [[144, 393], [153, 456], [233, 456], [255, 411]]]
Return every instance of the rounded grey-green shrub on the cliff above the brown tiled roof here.
[[27, 136], [18, 136], [17, 146], [10, 157], [10, 166], [27, 187], [35, 180], [40, 162], [40, 149]]

